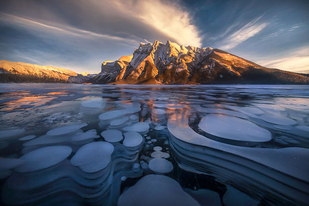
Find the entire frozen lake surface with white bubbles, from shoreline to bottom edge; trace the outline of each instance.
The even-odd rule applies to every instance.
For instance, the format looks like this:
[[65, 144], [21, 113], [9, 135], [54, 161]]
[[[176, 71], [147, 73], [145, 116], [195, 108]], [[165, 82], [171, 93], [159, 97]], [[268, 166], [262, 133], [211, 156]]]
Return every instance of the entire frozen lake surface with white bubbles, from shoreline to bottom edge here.
[[0, 84], [0, 204], [308, 205], [308, 105], [308, 86]]

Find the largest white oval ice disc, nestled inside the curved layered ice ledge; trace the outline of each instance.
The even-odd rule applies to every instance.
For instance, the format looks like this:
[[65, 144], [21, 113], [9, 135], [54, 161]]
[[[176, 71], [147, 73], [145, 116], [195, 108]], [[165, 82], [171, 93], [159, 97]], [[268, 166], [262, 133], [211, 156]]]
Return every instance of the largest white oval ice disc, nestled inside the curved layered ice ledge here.
[[238, 117], [210, 114], [198, 124], [204, 132], [229, 140], [265, 142], [271, 140], [271, 133], [256, 124]]

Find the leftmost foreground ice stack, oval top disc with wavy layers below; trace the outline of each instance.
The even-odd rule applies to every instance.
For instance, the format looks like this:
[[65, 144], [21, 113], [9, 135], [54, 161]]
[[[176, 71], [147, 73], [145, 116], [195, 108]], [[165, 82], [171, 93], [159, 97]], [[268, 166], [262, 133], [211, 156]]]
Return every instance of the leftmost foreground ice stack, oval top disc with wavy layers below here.
[[66, 158], [71, 152], [68, 146], [50, 146], [20, 157], [23, 164], [7, 179], [7, 189], [1, 193], [2, 201], [8, 205], [36, 205], [50, 195], [66, 191], [70, 180], [62, 179], [68, 176], [63, 166], [70, 167]]

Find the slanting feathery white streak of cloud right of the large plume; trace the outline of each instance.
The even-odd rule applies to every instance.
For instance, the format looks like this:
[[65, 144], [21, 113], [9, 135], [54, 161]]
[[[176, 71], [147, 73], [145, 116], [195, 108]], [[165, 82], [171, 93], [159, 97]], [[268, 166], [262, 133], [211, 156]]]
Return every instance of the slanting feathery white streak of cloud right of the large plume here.
[[220, 48], [223, 50], [234, 48], [238, 44], [244, 42], [245, 40], [259, 33], [263, 28], [265, 28], [268, 25], [268, 23], [257, 23], [257, 21], [262, 16], [253, 19], [251, 22], [247, 23], [241, 29], [228, 36], [225, 40], [223, 40], [222, 46]]

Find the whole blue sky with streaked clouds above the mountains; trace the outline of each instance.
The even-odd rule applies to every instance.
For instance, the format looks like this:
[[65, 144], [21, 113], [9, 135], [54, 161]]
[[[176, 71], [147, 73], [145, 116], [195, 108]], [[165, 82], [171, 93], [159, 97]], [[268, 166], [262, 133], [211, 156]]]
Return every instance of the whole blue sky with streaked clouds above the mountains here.
[[0, 59], [94, 74], [170, 40], [309, 73], [308, 11], [308, 0], [1, 0]]

